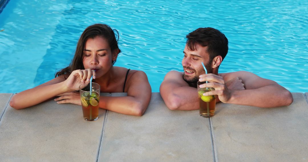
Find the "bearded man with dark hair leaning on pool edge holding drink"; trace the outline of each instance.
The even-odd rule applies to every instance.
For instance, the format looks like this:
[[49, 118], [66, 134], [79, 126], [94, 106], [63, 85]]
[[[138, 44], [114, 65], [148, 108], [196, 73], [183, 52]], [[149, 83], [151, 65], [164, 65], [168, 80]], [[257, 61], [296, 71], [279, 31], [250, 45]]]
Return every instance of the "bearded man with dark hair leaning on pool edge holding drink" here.
[[293, 102], [292, 94], [272, 80], [247, 71], [219, 74], [218, 68], [228, 53], [228, 39], [219, 30], [199, 28], [186, 38], [184, 73], [170, 71], [160, 85], [160, 95], [169, 109], [199, 109], [197, 81], [208, 81], [200, 87], [215, 88], [203, 95], [217, 95], [217, 102], [257, 107], [287, 106]]

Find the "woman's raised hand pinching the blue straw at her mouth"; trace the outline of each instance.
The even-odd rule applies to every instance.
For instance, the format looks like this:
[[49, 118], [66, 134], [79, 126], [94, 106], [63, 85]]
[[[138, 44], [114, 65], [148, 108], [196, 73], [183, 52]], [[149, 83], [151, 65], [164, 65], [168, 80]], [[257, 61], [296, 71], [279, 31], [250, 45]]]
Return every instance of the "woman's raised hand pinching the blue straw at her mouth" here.
[[89, 83], [92, 75], [93, 79], [95, 79], [95, 71], [91, 69], [74, 70], [64, 81], [65, 86], [69, 91], [78, 91], [79, 85], [82, 83]]

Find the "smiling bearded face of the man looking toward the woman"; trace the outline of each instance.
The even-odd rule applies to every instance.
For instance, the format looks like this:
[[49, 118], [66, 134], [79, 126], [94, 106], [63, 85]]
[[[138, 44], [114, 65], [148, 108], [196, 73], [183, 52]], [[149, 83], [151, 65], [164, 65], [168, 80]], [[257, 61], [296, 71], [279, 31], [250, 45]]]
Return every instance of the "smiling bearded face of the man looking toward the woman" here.
[[194, 51], [188, 50], [187, 46], [184, 48], [184, 57], [182, 65], [184, 68], [183, 79], [188, 83], [197, 83], [199, 75], [205, 74], [205, 70], [201, 64], [205, 65], [208, 73], [212, 73], [211, 60], [209, 60], [209, 54], [207, 53], [207, 47], [202, 47], [196, 44]]

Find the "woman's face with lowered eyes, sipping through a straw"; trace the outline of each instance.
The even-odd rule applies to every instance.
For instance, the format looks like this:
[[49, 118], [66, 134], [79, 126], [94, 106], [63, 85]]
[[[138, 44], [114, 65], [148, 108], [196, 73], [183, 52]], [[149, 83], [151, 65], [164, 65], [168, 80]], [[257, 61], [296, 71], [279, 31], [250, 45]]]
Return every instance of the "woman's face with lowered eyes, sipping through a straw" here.
[[112, 53], [109, 43], [103, 37], [89, 38], [84, 49], [83, 66], [85, 69], [94, 69], [96, 78], [99, 78], [109, 71], [112, 60], [116, 60], [118, 54]]

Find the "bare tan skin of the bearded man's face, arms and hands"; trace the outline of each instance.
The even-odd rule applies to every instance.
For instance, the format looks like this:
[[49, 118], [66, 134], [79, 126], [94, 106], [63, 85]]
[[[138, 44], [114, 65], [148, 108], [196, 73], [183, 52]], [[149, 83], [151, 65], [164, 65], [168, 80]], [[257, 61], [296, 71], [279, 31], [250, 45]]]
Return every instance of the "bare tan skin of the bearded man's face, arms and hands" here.
[[[216, 56], [210, 64], [213, 73], [205, 74], [201, 62], [209, 62], [207, 47], [196, 45], [196, 50], [184, 48], [182, 65], [187, 79], [198, 77], [208, 81], [200, 87], [213, 87], [215, 91], [203, 95], [217, 95], [217, 102], [249, 105], [257, 107], [288, 106], [293, 102], [292, 94], [276, 82], [261, 78], [247, 71], [218, 74], [221, 56]], [[199, 101], [197, 87], [191, 87], [183, 79], [183, 72], [170, 71], [160, 85], [160, 95], [171, 110], [197, 110]], [[197, 85], [196, 85], [197, 86]]]

